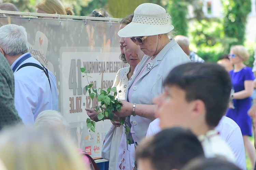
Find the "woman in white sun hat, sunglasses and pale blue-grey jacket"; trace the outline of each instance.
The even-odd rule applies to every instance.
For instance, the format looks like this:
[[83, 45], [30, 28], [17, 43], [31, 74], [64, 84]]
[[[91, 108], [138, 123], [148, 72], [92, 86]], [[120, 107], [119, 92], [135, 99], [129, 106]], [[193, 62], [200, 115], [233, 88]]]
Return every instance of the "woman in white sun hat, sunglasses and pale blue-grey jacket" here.
[[[167, 35], [174, 28], [169, 24], [170, 18], [161, 6], [143, 3], [135, 9], [132, 22], [118, 31], [120, 37], [131, 37], [145, 54], [130, 79], [121, 111], [115, 113], [119, 117], [126, 117], [131, 127], [127, 136], [135, 146], [140, 145], [148, 125], [157, 116], [153, 98], [162, 93], [163, 80], [173, 67], [190, 62], [176, 41]], [[126, 140], [122, 142], [126, 143]], [[119, 152], [123, 153], [123, 150]], [[120, 169], [135, 169], [129, 161], [122, 160], [122, 163], [117, 165]]]

